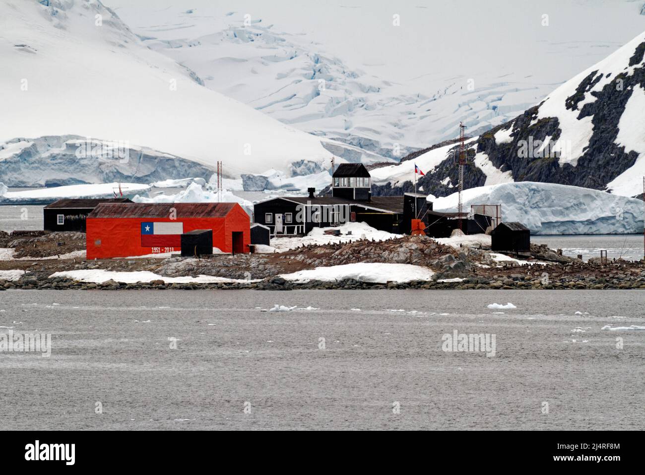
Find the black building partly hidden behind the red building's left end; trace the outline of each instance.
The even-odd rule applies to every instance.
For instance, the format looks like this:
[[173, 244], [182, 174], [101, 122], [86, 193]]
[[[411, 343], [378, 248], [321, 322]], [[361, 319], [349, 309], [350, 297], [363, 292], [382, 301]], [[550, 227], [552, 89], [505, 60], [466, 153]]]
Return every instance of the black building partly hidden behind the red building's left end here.
[[85, 232], [85, 218], [99, 203], [132, 203], [128, 198], [58, 200], [43, 208], [45, 231]]

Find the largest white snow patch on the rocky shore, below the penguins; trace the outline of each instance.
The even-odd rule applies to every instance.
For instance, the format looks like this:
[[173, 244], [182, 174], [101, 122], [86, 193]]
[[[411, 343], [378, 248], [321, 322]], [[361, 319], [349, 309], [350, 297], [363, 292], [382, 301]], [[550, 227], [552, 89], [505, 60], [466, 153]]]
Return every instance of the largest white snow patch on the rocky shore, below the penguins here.
[[357, 264], [343, 264], [341, 266], [318, 267], [280, 277], [295, 282], [309, 280], [335, 280], [355, 279], [361, 282], [385, 284], [388, 281], [410, 282], [411, 280], [430, 280], [434, 272], [422, 266], [412, 264], [383, 264], [381, 262], [358, 262]]

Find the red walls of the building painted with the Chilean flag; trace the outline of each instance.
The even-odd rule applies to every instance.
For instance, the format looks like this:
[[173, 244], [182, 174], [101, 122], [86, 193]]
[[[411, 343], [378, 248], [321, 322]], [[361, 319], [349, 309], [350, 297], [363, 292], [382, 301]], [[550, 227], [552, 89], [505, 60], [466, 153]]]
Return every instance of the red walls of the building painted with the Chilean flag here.
[[[239, 208], [239, 210], [238, 210]], [[137, 255], [179, 252], [181, 237], [177, 237], [175, 246], [168, 248], [150, 248], [141, 245], [142, 222], [182, 222], [183, 231], [194, 229], [213, 230], [213, 248], [230, 253], [232, 251], [232, 231], [242, 231], [244, 252], [248, 252], [251, 242], [250, 222], [248, 215], [241, 207], [233, 208], [225, 218], [88, 218], [87, 219], [87, 259], [110, 259], [112, 257], [130, 257]], [[100, 244], [97, 244], [100, 240]]]

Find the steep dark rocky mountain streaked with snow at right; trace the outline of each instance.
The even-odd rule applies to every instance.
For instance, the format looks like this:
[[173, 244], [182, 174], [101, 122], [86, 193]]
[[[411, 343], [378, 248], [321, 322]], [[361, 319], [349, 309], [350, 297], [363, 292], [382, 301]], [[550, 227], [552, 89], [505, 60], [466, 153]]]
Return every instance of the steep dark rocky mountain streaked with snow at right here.
[[[464, 187], [548, 182], [642, 194], [645, 175], [645, 33], [555, 89], [539, 105], [466, 142]], [[456, 134], [456, 133], [455, 133]], [[456, 145], [372, 171], [376, 193], [446, 196], [457, 185]]]

